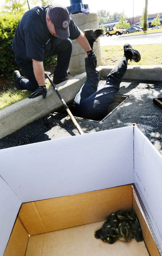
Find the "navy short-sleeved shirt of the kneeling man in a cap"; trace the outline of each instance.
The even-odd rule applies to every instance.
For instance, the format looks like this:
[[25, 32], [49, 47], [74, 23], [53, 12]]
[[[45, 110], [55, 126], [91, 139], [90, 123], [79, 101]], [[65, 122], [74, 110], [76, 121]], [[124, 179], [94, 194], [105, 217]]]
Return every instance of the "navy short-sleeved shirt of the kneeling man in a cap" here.
[[[50, 34], [46, 23], [46, 12], [49, 5], [37, 6], [27, 11], [19, 21], [12, 42], [12, 50], [16, 57], [31, 61], [43, 61], [44, 57], [53, 55], [55, 45], [61, 38]], [[80, 36], [80, 29], [70, 18], [70, 39]]]

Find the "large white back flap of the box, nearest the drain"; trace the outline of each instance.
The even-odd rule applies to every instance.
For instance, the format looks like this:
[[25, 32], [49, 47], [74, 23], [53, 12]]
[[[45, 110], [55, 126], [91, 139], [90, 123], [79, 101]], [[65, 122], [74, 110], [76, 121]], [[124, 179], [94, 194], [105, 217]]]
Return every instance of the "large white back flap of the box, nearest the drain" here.
[[133, 127], [7, 148], [0, 158], [0, 175], [22, 202], [126, 185], [134, 182]]

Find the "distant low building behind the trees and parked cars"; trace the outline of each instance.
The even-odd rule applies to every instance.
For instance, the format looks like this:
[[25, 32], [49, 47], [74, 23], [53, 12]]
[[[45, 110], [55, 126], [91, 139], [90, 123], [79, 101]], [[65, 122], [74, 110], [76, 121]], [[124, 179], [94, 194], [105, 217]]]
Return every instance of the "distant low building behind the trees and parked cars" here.
[[[160, 14], [160, 23], [162, 25], [162, 12], [159, 12], [159, 14]], [[147, 19], [148, 27], [153, 27], [153, 26], [151, 26], [151, 22], [153, 21], [154, 18], [157, 17], [157, 15], [158, 15], [158, 13], [148, 14], [148, 19]], [[134, 17], [134, 21], [133, 21], [133, 17], [132, 18], [128, 18], [126, 20], [127, 20], [127, 22], [130, 23], [131, 26], [133, 26], [133, 25], [135, 26], [135, 25], [139, 25], [140, 24], [140, 18], [141, 18], [141, 16], [137, 16], [137, 17]], [[104, 25], [104, 27], [114, 27], [118, 23], [119, 23], [119, 20], [113, 20], [113, 21], [110, 21], [110, 22], [104, 22], [103, 25]]]

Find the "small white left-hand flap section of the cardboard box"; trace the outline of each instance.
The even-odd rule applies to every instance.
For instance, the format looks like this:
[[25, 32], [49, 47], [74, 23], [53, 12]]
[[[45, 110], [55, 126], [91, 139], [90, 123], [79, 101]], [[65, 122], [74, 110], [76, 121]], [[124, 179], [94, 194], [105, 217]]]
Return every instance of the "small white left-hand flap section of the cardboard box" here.
[[0, 177], [0, 255], [3, 255], [22, 202]]

